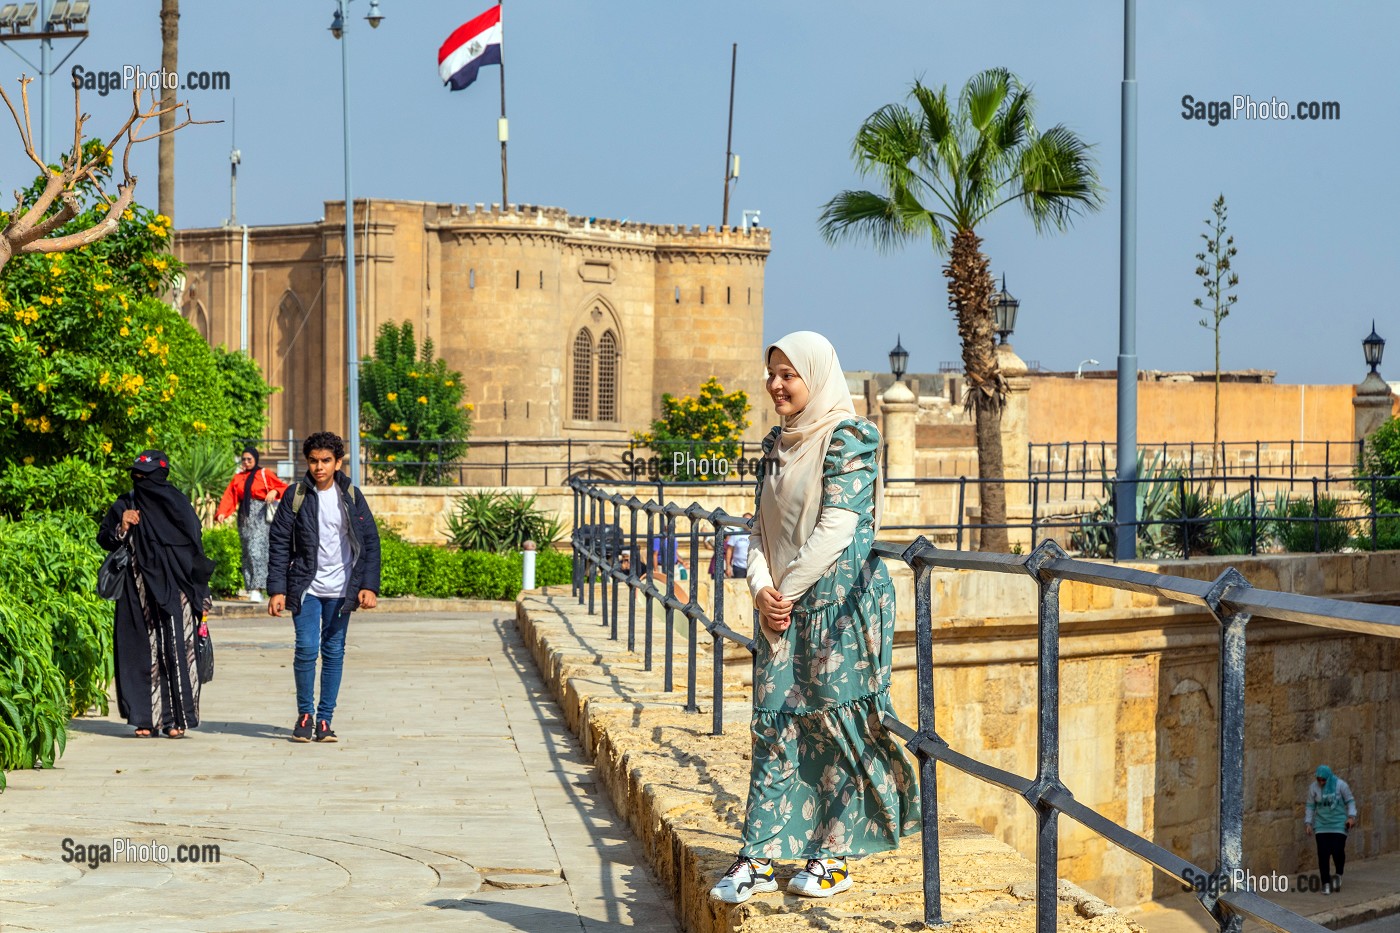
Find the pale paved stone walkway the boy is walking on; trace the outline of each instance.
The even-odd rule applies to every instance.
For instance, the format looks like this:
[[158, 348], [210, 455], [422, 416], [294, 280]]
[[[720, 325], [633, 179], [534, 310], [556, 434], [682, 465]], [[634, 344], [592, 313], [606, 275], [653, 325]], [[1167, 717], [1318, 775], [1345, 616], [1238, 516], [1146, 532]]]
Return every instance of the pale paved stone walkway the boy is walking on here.
[[[214, 642], [189, 738], [133, 738], [113, 703], [56, 769], [10, 775], [0, 930], [676, 929], [512, 609], [357, 612], [333, 745], [288, 741], [290, 619], [223, 619]], [[64, 839], [220, 859], [91, 869]]]

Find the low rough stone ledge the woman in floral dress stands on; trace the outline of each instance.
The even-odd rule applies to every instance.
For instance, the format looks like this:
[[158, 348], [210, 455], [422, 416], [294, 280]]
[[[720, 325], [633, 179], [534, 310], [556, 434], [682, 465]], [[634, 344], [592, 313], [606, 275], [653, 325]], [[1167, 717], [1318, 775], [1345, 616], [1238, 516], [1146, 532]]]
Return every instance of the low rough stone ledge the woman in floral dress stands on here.
[[[857, 887], [830, 901], [787, 894], [757, 895], [738, 906], [710, 901], [710, 885], [734, 859], [748, 793], [748, 688], [732, 672], [727, 677], [728, 731], [710, 735], [706, 691], [700, 712], [685, 712], [683, 693], [661, 689], [659, 658], [658, 670], [643, 671], [641, 660], [608, 640], [601, 618], [585, 615], [567, 588], [521, 594], [517, 623], [564, 719], [594, 759], [601, 789], [641, 839], [687, 933], [917, 929], [923, 918], [917, 838], [860, 860]], [[710, 682], [704, 664], [697, 681]], [[676, 682], [685, 684], [683, 654]], [[1033, 930], [1033, 867], [977, 827], [946, 811], [941, 817], [945, 929]], [[1064, 881], [1058, 923], [1060, 930], [1074, 932], [1141, 929]]]

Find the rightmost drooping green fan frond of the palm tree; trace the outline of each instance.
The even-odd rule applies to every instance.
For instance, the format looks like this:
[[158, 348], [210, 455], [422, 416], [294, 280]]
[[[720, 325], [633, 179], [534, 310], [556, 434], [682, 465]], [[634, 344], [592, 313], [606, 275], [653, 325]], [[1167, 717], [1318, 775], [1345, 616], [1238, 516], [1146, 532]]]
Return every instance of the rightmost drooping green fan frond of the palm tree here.
[[1016, 193], [1036, 227], [1065, 230], [1075, 214], [1098, 210], [1103, 188], [1093, 167], [1093, 147], [1064, 126], [1053, 126], [1021, 151]]

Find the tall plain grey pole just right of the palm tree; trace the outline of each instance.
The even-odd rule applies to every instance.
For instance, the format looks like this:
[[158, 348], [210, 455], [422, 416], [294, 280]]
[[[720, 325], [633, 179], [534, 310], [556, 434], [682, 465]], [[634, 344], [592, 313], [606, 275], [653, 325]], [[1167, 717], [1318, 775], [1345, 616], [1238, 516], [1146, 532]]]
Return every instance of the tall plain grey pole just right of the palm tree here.
[[1137, 558], [1137, 0], [1123, 0], [1123, 192], [1119, 220], [1119, 466], [1116, 560]]

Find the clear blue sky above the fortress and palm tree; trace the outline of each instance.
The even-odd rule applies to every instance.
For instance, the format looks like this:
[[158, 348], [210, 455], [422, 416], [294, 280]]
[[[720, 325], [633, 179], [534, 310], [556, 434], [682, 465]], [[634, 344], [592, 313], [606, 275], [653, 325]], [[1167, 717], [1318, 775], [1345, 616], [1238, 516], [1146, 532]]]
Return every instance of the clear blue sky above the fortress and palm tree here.
[[[351, 4], [357, 196], [500, 199], [498, 70], [448, 92], [437, 46], [484, 0]], [[181, 70], [228, 71], [231, 91], [190, 91], [195, 115], [228, 119], [238, 101], [238, 217], [315, 220], [342, 196], [340, 50], [319, 0], [186, 0]], [[92, 36], [64, 66], [160, 63], [158, 0], [94, 0]], [[827, 247], [823, 202], [858, 186], [850, 140], [878, 106], [921, 77], [958, 88], [1005, 66], [1030, 81], [1042, 126], [1063, 122], [1098, 146], [1107, 205], [1058, 235], [1016, 212], [994, 219], [984, 248], [1021, 300], [1018, 352], [1050, 368], [1117, 353], [1119, 0], [984, 3], [721, 0], [507, 0], [511, 199], [575, 214], [717, 224], [729, 45], [739, 43], [735, 150], [742, 178], [731, 219], [762, 209], [773, 230], [769, 338], [827, 333], [846, 368], [888, 367], [896, 332], [910, 368], [958, 359], [941, 261], [924, 245], [881, 255]], [[1278, 370], [1288, 382], [1355, 382], [1371, 318], [1400, 345], [1400, 266], [1392, 226], [1400, 182], [1394, 87], [1400, 4], [1338, 0], [1140, 3], [1138, 354], [1142, 368], [1211, 368], [1211, 336], [1191, 298], [1197, 234], [1224, 192], [1239, 247], [1239, 304], [1225, 322], [1224, 366]], [[25, 52], [36, 52], [28, 43]], [[0, 52], [14, 87], [24, 66]], [[53, 87], [55, 139], [71, 132], [66, 74]], [[1338, 101], [1337, 122], [1182, 119], [1180, 99]], [[35, 106], [38, 88], [35, 87]], [[84, 95], [94, 130], [129, 98]], [[10, 188], [32, 167], [0, 144]], [[182, 130], [178, 226], [228, 214], [230, 125]], [[136, 160], [137, 198], [155, 202], [155, 144]], [[1400, 373], [1400, 349], [1385, 370]]]

